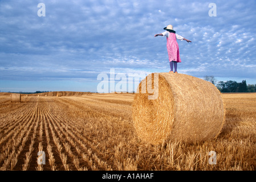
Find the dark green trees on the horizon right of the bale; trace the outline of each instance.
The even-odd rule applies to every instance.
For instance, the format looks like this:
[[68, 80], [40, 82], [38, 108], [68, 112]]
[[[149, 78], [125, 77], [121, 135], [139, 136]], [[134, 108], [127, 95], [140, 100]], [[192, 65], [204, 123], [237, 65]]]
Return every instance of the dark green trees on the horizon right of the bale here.
[[219, 81], [217, 82], [214, 76], [205, 76], [206, 81], [212, 82], [222, 93], [235, 93], [235, 92], [256, 92], [256, 84], [246, 84], [246, 80], [242, 82], [237, 81]]

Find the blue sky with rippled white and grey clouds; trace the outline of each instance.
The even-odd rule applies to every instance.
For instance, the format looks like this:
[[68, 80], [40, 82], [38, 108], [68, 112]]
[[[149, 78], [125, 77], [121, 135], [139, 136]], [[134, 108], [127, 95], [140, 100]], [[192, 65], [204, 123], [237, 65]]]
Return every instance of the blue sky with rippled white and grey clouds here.
[[135, 77], [170, 70], [166, 38], [154, 37], [168, 24], [192, 41], [177, 40], [178, 73], [256, 84], [255, 8], [255, 0], [0, 0], [0, 90], [99, 92], [103, 81], [129, 79], [136, 90]]

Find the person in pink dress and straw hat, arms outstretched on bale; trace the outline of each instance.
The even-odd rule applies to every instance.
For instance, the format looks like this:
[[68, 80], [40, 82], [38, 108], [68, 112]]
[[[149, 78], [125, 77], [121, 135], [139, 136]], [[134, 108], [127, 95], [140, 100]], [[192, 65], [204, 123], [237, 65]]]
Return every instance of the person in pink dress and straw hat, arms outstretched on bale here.
[[170, 62], [169, 73], [173, 73], [173, 64], [174, 64], [174, 73], [178, 73], [177, 63], [181, 63], [181, 59], [180, 59], [180, 51], [178, 50], [178, 43], [176, 39], [186, 40], [186, 42], [188, 43], [191, 41], [176, 34], [176, 31], [173, 30], [173, 26], [171, 24], [165, 27], [164, 30], [166, 31], [162, 32], [161, 34], [156, 34], [155, 37], [159, 35], [166, 36], [166, 40], [167, 40], [166, 47], [167, 47], [169, 62]]

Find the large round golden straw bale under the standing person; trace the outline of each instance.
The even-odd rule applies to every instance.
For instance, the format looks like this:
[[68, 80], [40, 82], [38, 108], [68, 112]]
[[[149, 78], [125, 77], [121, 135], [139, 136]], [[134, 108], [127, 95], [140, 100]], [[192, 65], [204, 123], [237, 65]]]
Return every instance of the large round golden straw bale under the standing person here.
[[[145, 90], [148, 85], [154, 93]], [[153, 94], [156, 97], [149, 99]], [[220, 91], [208, 81], [180, 73], [152, 73], [137, 88], [132, 118], [138, 137], [145, 142], [192, 142], [220, 134], [225, 107]]]

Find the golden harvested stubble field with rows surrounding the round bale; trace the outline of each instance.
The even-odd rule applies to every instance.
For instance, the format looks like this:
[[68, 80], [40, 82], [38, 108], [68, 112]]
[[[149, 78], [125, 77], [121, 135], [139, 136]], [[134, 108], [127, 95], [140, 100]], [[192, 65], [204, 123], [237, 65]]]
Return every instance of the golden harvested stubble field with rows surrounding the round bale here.
[[[159, 146], [136, 137], [134, 94], [23, 96], [0, 93], [1, 170], [255, 170], [256, 94], [222, 94], [216, 139]], [[210, 126], [209, 126], [210, 127]], [[217, 154], [209, 164], [210, 151]], [[45, 154], [45, 164], [42, 155]]]

